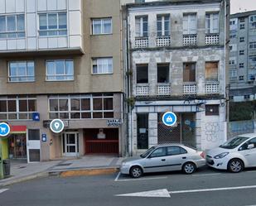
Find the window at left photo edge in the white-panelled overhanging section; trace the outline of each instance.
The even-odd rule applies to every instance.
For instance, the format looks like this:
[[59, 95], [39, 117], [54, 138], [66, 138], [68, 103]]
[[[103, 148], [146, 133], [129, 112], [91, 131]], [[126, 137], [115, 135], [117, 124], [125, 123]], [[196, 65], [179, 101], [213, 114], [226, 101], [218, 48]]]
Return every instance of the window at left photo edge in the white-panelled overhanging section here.
[[0, 16], [0, 39], [24, 38], [24, 14]]

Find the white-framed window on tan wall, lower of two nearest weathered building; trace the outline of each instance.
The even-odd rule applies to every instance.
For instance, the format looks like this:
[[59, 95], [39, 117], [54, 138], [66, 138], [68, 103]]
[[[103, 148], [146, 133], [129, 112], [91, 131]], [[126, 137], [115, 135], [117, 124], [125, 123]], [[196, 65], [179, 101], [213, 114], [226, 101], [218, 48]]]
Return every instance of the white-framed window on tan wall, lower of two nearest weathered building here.
[[93, 59], [93, 74], [113, 74], [113, 58]]

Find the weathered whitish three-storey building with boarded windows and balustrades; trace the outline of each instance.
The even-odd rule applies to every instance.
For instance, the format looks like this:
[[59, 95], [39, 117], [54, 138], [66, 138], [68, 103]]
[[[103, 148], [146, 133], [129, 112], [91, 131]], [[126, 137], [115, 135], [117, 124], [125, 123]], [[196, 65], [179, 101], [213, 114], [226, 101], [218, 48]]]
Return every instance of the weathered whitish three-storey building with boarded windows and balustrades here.
[[[128, 2], [128, 1], [126, 1]], [[129, 148], [181, 142], [200, 150], [226, 139], [229, 1], [129, 1]], [[176, 113], [173, 127], [162, 115]]]

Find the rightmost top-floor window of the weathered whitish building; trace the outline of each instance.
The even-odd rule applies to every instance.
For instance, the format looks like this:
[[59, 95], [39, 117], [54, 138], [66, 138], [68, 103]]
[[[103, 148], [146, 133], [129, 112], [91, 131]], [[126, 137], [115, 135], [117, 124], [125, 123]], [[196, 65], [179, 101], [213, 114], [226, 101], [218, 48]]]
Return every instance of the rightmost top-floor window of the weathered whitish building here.
[[205, 33], [219, 33], [219, 13], [205, 15]]

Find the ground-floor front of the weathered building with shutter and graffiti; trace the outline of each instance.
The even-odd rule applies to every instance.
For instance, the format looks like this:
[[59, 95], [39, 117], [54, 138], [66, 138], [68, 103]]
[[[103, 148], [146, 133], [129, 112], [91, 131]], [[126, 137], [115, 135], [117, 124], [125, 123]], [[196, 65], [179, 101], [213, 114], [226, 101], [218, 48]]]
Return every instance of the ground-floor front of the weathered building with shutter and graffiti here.
[[[173, 127], [162, 122], [166, 112], [176, 114]], [[182, 143], [207, 150], [226, 137], [225, 102], [216, 100], [140, 101], [130, 117], [129, 148], [138, 154], [156, 144]]]

